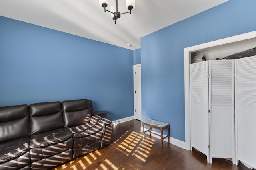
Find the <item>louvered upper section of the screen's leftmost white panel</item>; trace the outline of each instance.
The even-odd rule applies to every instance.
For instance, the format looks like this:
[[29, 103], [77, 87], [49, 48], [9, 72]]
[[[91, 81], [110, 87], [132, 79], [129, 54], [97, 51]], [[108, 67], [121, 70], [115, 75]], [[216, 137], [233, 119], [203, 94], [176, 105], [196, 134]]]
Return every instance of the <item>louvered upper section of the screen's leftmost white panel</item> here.
[[207, 61], [190, 64], [191, 102], [206, 104], [208, 102], [208, 64]]

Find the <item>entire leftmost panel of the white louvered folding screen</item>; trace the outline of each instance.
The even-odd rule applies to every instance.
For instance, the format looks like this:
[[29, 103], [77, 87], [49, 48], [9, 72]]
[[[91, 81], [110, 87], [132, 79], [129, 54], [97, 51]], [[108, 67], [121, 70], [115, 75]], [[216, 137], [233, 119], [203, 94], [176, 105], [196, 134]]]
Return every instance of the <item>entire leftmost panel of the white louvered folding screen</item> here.
[[208, 61], [190, 64], [190, 133], [194, 147], [209, 157]]

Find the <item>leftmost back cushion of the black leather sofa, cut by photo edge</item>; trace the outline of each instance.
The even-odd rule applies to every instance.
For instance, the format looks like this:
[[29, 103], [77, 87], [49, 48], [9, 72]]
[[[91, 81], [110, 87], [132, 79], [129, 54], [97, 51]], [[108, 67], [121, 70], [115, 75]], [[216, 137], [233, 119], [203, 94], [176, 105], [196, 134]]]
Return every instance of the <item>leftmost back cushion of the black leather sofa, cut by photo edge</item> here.
[[0, 143], [28, 135], [28, 105], [0, 107]]

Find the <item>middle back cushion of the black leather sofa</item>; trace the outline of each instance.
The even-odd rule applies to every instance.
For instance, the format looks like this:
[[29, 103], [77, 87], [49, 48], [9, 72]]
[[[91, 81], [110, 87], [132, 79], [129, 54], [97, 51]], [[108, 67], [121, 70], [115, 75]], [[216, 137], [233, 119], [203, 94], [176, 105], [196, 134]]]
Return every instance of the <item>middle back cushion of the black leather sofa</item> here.
[[42, 133], [64, 127], [61, 102], [43, 102], [28, 106], [30, 133]]

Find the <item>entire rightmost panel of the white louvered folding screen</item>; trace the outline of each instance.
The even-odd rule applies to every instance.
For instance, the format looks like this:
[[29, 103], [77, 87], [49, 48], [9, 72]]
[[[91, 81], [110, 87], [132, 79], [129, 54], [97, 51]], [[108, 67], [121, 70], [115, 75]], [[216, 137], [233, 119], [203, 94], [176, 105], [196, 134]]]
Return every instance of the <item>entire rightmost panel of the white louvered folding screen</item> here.
[[235, 60], [236, 163], [256, 168], [256, 56]]

